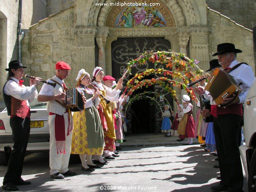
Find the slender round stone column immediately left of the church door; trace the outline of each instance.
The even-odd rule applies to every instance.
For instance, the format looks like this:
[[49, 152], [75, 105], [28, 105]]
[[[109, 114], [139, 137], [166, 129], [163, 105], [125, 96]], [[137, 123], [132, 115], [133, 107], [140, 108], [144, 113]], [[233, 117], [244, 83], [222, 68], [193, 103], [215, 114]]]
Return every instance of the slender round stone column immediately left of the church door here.
[[108, 37], [109, 28], [108, 27], [97, 27], [96, 41], [99, 48], [99, 58], [98, 63], [104, 72], [106, 72], [106, 58], [105, 58], [105, 46], [106, 37]]

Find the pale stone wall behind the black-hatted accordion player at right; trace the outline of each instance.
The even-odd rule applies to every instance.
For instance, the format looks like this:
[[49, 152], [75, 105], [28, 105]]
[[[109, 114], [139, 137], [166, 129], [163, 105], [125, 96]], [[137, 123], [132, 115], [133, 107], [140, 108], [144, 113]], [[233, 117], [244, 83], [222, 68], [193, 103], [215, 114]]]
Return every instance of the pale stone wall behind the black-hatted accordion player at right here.
[[237, 49], [243, 51], [237, 56], [239, 62], [247, 62], [255, 72], [252, 31], [245, 29], [230, 21], [229, 18], [220, 13], [207, 9], [207, 24], [210, 28], [209, 42], [209, 59], [215, 59], [211, 55], [217, 52], [217, 45], [223, 42], [231, 42]]

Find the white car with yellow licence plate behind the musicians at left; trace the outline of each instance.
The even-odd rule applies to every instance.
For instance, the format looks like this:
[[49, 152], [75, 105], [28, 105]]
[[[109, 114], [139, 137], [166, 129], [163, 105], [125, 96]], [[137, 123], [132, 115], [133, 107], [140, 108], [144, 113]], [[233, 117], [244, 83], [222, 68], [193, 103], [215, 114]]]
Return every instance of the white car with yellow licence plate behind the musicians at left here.
[[[50, 133], [46, 102], [38, 102], [34, 99], [30, 103], [31, 130], [27, 151], [49, 151]], [[0, 165], [7, 165], [10, 152], [13, 147], [12, 130], [9, 123], [10, 116], [7, 109], [0, 113]]]

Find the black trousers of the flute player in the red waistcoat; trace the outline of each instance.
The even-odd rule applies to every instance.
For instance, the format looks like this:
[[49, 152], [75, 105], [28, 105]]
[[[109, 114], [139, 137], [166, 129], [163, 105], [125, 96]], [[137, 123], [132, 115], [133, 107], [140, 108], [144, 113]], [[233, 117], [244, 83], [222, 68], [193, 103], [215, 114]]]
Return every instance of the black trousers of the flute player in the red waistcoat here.
[[30, 134], [30, 118], [11, 117], [13, 150], [8, 162], [3, 184], [15, 182], [22, 176], [23, 162]]

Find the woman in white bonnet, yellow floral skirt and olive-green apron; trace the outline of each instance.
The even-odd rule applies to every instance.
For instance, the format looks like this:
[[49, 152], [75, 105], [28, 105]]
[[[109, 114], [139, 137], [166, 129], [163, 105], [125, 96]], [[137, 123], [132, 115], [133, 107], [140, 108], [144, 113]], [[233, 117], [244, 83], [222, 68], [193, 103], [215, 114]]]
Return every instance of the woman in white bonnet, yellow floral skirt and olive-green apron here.
[[[99, 168], [92, 162], [92, 155], [103, 154], [104, 135], [99, 113], [95, 107], [99, 104], [98, 95], [87, 87], [90, 85], [90, 74], [81, 69], [77, 75], [76, 89], [86, 99], [84, 100], [85, 110], [73, 114], [73, 135], [71, 153], [79, 154], [82, 162], [82, 170], [91, 171], [91, 168]], [[95, 105], [94, 105], [95, 104]], [[101, 158], [101, 162], [105, 163]]]

